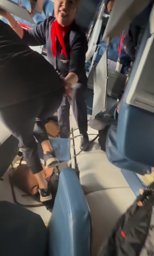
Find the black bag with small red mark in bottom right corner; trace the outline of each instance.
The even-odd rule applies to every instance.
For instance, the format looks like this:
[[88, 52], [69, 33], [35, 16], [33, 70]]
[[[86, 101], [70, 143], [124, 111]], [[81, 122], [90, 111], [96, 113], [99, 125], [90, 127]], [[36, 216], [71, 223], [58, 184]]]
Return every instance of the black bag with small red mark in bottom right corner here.
[[154, 256], [154, 183], [120, 217], [98, 256]]

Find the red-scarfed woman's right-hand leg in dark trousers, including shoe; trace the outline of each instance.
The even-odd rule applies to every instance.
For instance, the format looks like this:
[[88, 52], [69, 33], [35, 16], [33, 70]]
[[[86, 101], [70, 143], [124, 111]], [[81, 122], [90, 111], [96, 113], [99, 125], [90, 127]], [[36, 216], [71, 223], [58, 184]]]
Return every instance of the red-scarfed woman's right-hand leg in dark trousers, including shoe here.
[[81, 134], [81, 149], [86, 151], [89, 148], [87, 106], [84, 96], [87, 86], [82, 83], [76, 83], [73, 89], [73, 99], [69, 101]]

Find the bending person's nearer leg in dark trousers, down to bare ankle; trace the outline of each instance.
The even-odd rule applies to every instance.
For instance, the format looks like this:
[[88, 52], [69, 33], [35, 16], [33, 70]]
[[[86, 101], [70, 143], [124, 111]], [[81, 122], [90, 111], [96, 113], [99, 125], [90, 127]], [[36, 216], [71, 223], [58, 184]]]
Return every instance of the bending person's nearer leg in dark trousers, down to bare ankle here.
[[0, 109], [0, 121], [19, 140], [23, 157], [37, 178], [39, 187], [47, 188], [47, 181], [38, 155], [37, 142], [33, 135], [35, 117], [39, 115], [43, 106], [42, 98], [25, 101], [10, 107]]

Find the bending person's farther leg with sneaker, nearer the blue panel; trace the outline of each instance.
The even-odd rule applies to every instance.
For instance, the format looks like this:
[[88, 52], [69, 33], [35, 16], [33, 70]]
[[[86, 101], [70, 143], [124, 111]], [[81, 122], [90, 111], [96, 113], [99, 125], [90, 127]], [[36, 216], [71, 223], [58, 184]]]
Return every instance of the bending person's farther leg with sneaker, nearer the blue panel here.
[[45, 120], [52, 116], [62, 103], [63, 89], [44, 96], [43, 109], [41, 110], [34, 126], [34, 136], [41, 144], [44, 153], [45, 166], [47, 168], [58, 165], [54, 151], [50, 145], [45, 129]]

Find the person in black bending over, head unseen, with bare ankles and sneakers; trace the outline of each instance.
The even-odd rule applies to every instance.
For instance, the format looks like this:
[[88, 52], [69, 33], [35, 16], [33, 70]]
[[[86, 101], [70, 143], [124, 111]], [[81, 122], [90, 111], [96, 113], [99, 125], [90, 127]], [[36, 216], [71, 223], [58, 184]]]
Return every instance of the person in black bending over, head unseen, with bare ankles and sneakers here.
[[69, 95], [69, 82], [62, 81], [42, 55], [0, 20], [0, 121], [19, 140], [38, 181], [40, 200], [49, 204], [51, 184], [45, 179], [35, 138], [43, 148], [46, 168], [58, 165], [44, 120], [57, 111], [65, 91]]

